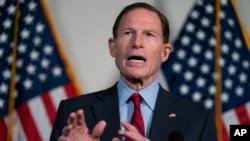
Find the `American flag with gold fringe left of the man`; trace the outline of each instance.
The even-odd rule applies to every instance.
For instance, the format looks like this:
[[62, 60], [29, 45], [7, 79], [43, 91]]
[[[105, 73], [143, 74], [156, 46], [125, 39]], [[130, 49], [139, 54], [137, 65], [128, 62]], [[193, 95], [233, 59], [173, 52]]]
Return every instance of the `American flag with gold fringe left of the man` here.
[[[44, 0], [0, 1], [0, 140], [46, 141], [60, 100], [79, 91], [55, 34]], [[20, 11], [18, 24], [15, 15]], [[14, 28], [18, 27], [17, 57], [13, 56]], [[11, 65], [16, 75], [11, 74]], [[15, 77], [14, 103], [10, 80]], [[13, 108], [13, 120], [9, 120]], [[10, 129], [10, 128], [9, 128]]]

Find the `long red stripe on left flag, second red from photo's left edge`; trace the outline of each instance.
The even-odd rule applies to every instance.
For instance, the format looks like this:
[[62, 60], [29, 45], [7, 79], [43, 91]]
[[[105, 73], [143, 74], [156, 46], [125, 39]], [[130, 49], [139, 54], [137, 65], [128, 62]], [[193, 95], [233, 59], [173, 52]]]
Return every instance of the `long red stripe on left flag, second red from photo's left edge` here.
[[21, 105], [17, 112], [27, 139], [29, 141], [41, 141], [41, 137], [28, 105]]

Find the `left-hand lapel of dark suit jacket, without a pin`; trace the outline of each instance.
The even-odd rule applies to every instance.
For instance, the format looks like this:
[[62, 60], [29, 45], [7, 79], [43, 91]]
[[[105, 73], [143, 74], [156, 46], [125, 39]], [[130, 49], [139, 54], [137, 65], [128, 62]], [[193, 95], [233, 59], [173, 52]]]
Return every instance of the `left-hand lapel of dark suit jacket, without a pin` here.
[[94, 117], [96, 121], [105, 120], [107, 122], [102, 138], [103, 140], [111, 140], [112, 137], [118, 136], [117, 131], [120, 129], [116, 85], [98, 95], [98, 99], [101, 99], [101, 102], [92, 106]]

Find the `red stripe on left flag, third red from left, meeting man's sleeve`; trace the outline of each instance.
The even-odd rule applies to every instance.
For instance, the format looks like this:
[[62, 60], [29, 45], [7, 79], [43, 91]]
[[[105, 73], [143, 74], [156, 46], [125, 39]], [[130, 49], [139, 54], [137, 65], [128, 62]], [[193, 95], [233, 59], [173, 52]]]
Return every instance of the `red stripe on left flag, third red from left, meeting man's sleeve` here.
[[53, 126], [53, 119], [55, 119], [56, 115], [56, 107], [54, 106], [49, 93], [44, 93], [41, 98], [43, 100], [44, 106], [46, 107], [45, 109], [49, 117], [48, 119], [50, 120], [50, 125]]

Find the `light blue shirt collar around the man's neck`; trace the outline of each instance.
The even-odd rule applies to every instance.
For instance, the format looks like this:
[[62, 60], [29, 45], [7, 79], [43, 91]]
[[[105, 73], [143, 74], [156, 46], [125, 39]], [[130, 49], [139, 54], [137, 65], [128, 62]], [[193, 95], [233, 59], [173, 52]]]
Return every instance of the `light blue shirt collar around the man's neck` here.
[[[119, 97], [119, 105], [124, 105], [130, 96], [135, 92], [133, 89], [129, 88], [120, 78], [117, 84], [118, 89], [118, 97]], [[151, 110], [155, 107], [155, 101], [157, 98], [157, 94], [159, 91], [159, 83], [155, 80], [148, 87], [140, 90], [138, 93], [143, 98], [143, 101], [151, 108]]]

